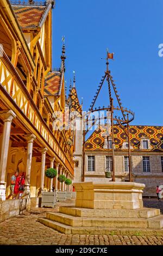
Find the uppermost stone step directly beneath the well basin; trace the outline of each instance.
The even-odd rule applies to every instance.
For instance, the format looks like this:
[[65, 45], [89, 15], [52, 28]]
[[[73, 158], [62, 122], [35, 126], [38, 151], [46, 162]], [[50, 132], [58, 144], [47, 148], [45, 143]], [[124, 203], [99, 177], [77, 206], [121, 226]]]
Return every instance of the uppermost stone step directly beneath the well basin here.
[[59, 212], [76, 217], [112, 217], [112, 218], [150, 218], [160, 215], [160, 209], [142, 208], [141, 210], [86, 209], [60, 206]]

